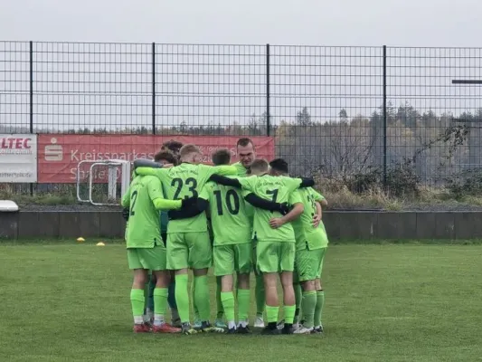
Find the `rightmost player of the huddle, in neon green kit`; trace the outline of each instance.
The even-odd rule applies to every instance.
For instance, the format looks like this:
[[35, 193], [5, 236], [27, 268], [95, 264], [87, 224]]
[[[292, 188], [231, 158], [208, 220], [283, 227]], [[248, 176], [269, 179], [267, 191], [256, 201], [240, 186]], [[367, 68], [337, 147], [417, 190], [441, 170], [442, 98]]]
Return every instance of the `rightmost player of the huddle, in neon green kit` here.
[[[272, 176], [288, 176], [288, 163], [282, 158], [269, 162], [269, 174]], [[297, 311], [299, 300], [303, 311], [302, 325], [294, 331], [295, 334], [311, 334], [314, 332], [314, 318], [317, 307], [317, 281], [320, 278], [320, 269], [325, 256], [327, 238], [321, 226], [315, 227], [317, 220], [317, 203], [323, 198], [313, 188], [299, 188], [296, 193], [304, 205], [304, 212], [292, 221], [296, 237], [295, 279], [296, 284], [301, 284], [302, 298], [297, 298]], [[296, 290], [295, 285], [295, 290]], [[298, 317], [298, 316], [296, 316]]]

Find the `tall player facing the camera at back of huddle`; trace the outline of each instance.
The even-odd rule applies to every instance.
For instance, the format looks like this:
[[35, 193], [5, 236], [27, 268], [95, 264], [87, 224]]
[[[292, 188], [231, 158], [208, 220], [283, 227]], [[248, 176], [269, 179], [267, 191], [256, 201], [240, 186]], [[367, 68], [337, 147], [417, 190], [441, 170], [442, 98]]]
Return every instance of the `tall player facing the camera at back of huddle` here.
[[[250, 138], [240, 138], [236, 143], [236, 153], [238, 154], [239, 161], [232, 164], [238, 170], [237, 175], [245, 177], [250, 174], [250, 167], [254, 159], [256, 158], [256, 148], [254, 142]], [[253, 258], [256, 257], [256, 243], [253, 243]], [[256, 300], [256, 319], [254, 321], [254, 328], [264, 328], [264, 281], [263, 276], [258, 272], [257, 268], [254, 268], [254, 275], [256, 278], [256, 284], [254, 287], [254, 296]]]

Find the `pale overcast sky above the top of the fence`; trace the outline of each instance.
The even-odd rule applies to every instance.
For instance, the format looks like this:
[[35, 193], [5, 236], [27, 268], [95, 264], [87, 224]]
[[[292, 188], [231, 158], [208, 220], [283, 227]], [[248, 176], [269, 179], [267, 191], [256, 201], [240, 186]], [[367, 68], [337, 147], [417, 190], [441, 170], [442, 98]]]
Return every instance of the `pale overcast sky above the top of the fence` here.
[[480, 0], [3, 0], [2, 40], [480, 46]]

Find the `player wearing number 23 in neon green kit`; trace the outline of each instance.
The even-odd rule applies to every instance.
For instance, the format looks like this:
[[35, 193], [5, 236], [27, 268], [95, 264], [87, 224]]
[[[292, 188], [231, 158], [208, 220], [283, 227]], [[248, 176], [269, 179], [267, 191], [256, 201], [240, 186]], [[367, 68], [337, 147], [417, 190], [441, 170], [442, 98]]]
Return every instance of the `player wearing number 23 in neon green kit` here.
[[[137, 167], [138, 175], [157, 176], [169, 200], [197, 197], [214, 174], [235, 175], [231, 166], [209, 167], [200, 164], [202, 153], [194, 145], [184, 145], [180, 150], [181, 164], [171, 168]], [[171, 220], [167, 225], [167, 267], [175, 271], [175, 300], [183, 333], [193, 334], [189, 319], [189, 294], [187, 291], [188, 270], [194, 272], [195, 304], [199, 310], [201, 331], [224, 331], [211, 327], [209, 285], [207, 271], [212, 262], [212, 248], [207, 233], [204, 213], [187, 219]], [[156, 307], [156, 305], [155, 305]]]

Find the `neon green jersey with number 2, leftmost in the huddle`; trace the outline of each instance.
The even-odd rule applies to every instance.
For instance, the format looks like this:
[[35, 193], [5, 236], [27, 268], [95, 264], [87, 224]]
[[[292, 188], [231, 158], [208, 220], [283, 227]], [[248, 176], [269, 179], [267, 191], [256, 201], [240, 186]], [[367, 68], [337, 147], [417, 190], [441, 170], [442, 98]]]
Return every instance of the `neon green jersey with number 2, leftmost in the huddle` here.
[[122, 197], [122, 205], [130, 210], [126, 242], [128, 248], [153, 248], [161, 245], [159, 211], [154, 200], [163, 199], [161, 182], [154, 176], [137, 176], [128, 192]]

